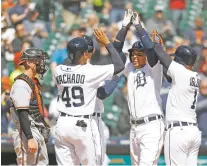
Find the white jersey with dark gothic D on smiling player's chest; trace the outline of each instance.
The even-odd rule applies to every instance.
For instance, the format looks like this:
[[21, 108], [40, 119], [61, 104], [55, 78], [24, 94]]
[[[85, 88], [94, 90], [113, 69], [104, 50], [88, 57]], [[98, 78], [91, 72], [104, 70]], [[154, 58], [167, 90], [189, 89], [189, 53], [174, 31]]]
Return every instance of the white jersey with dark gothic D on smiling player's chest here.
[[162, 115], [160, 62], [153, 68], [147, 63], [140, 69], [135, 69], [132, 63], [128, 63], [125, 70], [125, 74], [128, 73], [128, 105], [131, 118], [140, 119], [152, 114]]

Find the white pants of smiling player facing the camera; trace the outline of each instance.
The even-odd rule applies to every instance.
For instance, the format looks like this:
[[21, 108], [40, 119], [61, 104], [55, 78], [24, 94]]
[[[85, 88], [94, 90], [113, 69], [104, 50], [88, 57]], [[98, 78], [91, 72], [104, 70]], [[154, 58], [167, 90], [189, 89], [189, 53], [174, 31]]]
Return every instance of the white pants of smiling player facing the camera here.
[[130, 130], [130, 156], [132, 165], [155, 166], [158, 163], [164, 138], [163, 120], [132, 124]]

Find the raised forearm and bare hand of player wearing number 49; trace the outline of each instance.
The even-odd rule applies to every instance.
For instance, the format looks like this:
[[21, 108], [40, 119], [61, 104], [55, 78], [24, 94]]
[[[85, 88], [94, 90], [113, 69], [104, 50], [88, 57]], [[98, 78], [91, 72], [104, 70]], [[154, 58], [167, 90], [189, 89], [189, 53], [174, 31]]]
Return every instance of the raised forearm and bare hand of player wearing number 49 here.
[[111, 61], [114, 65], [114, 75], [124, 70], [124, 63], [114, 48], [113, 44], [109, 41], [107, 35], [101, 29], [94, 29], [94, 35], [96, 37], [96, 40], [99, 43], [103, 44], [110, 53]]

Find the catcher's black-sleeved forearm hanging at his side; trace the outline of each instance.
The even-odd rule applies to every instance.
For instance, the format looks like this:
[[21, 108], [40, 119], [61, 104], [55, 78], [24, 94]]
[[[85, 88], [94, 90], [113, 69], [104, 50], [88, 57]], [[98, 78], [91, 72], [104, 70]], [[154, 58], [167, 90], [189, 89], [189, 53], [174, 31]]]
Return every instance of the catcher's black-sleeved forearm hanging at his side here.
[[25, 134], [27, 139], [33, 138], [32, 131], [31, 131], [31, 128], [30, 128], [30, 121], [29, 121], [29, 118], [28, 118], [29, 110], [27, 110], [27, 109], [18, 109], [17, 112], [18, 112], [19, 122], [20, 122], [23, 133]]

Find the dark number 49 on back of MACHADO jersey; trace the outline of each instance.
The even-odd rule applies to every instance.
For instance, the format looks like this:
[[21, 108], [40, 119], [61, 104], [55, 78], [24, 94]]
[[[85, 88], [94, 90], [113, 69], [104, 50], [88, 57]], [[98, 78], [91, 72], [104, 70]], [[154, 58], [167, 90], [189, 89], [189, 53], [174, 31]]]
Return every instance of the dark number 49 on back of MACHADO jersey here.
[[[76, 92], [79, 94], [77, 94]], [[72, 94], [71, 97], [69, 94]], [[80, 102], [72, 102], [72, 105], [71, 105], [71, 98], [73, 100], [78, 99]], [[84, 101], [83, 89], [80, 86], [74, 86], [71, 89], [68, 87], [64, 87], [63, 92], [62, 92], [62, 101], [66, 102], [65, 104], [66, 107], [71, 107], [71, 106], [80, 107], [84, 105], [85, 101]]]

